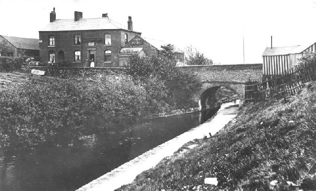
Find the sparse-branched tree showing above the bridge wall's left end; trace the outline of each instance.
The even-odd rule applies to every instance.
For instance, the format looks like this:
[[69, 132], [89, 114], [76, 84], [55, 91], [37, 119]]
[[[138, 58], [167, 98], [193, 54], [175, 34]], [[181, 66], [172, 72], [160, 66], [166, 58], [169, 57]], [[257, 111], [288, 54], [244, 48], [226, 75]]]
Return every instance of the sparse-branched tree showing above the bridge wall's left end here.
[[188, 46], [185, 51], [186, 55], [186, 64], [188, 65], [212, 65], [213, 61], [204, 56], [203, 53], [197, 51], [196, 48], [193, 48], [192, 45]]

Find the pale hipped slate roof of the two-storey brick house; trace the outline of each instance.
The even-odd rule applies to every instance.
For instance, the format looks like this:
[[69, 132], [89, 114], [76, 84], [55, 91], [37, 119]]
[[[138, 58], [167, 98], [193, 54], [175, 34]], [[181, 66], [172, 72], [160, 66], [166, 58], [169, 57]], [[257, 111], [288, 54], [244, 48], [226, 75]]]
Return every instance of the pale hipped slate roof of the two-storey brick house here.
[[54, 22], [47, 24], [40, 31], [84, 31], [102, 29], [123, 29], [129, 31], [126, 26], [108, 17], [79, 19], [78, 21], [74, 21], [74, 19], [56, 19]]

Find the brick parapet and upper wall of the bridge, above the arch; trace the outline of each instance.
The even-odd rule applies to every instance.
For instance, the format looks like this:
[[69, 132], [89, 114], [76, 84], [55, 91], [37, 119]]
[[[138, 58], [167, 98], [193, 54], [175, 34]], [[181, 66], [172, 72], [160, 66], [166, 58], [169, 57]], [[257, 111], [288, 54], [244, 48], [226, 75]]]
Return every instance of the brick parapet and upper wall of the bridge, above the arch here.
[[262, 64], [190, 65], [181, 66], [195, 73], [202, 81], [246, 81], [262, 78]]

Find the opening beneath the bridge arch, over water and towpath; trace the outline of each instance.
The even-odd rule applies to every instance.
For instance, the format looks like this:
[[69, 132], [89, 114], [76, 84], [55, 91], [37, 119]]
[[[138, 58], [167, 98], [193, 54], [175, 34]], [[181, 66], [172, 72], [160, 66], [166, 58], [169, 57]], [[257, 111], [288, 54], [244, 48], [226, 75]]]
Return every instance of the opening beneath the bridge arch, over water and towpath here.
[[239, 96], [238, 91], [226, 86], [212, 86], [204, 90], [200, 96], [200, 109], [212, 107], [220, 98]]

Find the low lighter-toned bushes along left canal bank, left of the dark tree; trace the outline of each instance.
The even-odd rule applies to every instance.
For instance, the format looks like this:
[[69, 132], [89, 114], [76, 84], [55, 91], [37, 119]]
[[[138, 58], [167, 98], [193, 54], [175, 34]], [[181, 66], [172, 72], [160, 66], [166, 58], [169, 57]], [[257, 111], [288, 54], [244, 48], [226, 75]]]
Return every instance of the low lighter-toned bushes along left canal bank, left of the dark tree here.
[[0, 90], [0, 147], [33, 147], [133, 122], [147, 104], [145, 90], [130, 79], [40, 79]]

